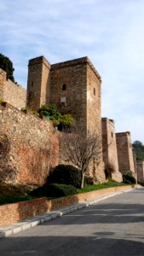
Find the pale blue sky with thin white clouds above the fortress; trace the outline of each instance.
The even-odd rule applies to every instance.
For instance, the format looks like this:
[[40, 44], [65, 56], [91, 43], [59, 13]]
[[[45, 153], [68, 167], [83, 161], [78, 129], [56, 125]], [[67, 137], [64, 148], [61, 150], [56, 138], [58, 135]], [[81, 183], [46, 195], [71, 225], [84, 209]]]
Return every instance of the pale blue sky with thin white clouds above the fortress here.
[[0, 52], [26, 87], [28, 60], [87, 55], [102, 78], [102, 116], [144, 143], [143, 0], [1, 0]]

